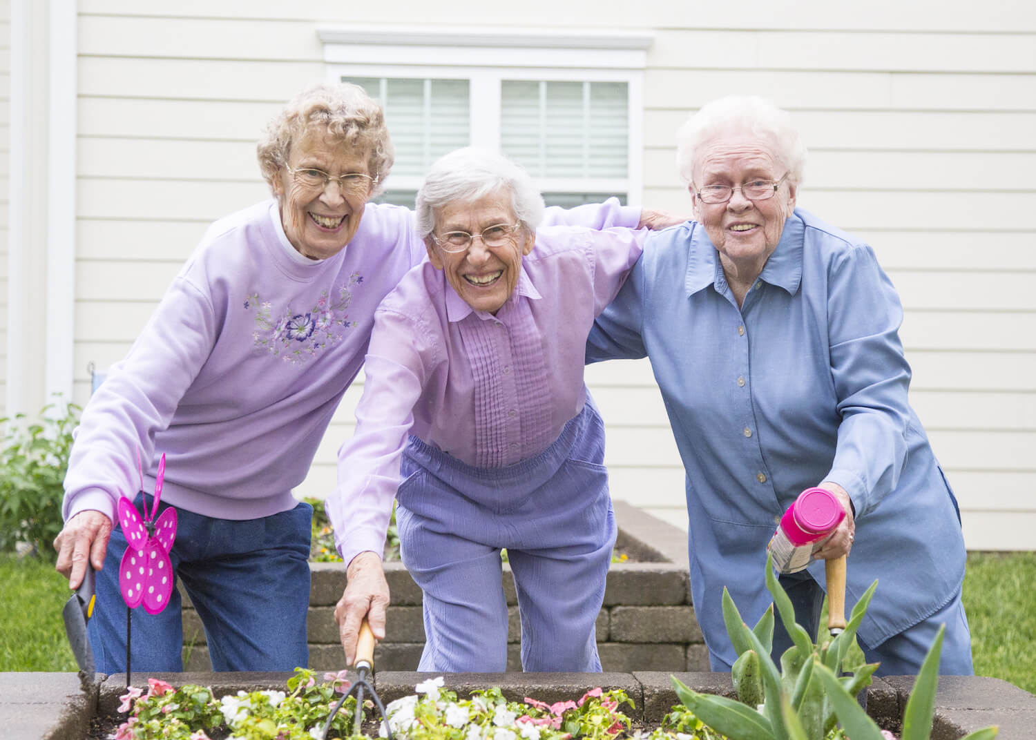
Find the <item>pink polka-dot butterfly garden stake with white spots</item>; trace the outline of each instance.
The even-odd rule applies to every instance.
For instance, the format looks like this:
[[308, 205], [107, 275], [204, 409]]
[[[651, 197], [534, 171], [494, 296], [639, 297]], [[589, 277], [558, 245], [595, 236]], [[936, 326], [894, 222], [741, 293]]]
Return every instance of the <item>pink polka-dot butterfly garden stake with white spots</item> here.
[[[141, 491], [144, 490], [144, 472], [137, 450], [137, 470], [140, 471]], [[141, 604], [148, 614], [159, 614], [169, 602], [173, 592], [173, 566], [169, 553], [176, 538], [176, 509], [166, 508], [161, 515], [162, 481], [166, 474], [166, 455], [159, 461], [154, 477], [154, 497], [151, 513], [144, 501], [141, 516], [132, 500], [119, 497], [119, 524], [126, 538], [126, 552], [119, 563], [119, 591], [126, 602], [126, 685], [130, 685], [130, 610]]]

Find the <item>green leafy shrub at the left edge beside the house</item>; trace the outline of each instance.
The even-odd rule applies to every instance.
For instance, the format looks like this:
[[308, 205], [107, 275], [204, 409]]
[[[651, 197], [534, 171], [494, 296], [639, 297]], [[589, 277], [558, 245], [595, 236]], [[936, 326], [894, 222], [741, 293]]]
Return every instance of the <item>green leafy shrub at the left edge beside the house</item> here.
[[53, 558], [51, 543], [61, 531], [62, 483], [68, 467], [71, 431], [79, 423], [76, 404], [49, 404], [38, 422], [24, 414], [0, 419], [0, 552], [28, 542]]

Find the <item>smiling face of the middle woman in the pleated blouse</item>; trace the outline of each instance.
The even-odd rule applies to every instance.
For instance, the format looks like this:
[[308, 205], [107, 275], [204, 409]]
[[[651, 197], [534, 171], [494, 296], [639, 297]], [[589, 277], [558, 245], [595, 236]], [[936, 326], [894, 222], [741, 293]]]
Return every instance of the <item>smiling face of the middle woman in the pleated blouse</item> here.
[[[518, 219], [511, 208], [510, 194], [492, 193], [474, 201], [454, 202], [436, 211], [435, 232], [441, 237], [451, 231], [481, 234], [497, 224], [513, 225]], [[473, 238], [466, 251], [443, 251], [429, 237], [428, 259], [447, 273], [457, 295], [476, 310], [496, 314], [511, 297], [521, 274], [521, 258], [533, 250], [533, 235], [516, 231], [502, 246], [487, 247]]]

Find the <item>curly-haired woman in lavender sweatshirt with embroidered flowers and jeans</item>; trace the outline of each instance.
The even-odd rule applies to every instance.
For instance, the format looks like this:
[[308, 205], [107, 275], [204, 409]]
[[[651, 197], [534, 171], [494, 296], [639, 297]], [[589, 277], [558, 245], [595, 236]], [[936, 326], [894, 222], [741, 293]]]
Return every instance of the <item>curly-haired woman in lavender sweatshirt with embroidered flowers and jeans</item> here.
[[[410, 211], [368, 202], [393, 158], [381, 109], [361, 88], [319, 85], [292, 100], [259, 144], [274, 198], [209, 228], [84, 410], [55, 547], [73, 588], [87, 561], [99, 571], [98, 671], [125, 669], [116, 568], [104, 566], [126, 546], [112, 526], [118, 497], [150, 500], [138, 494], [135, 448], [148, 492], [166, 454], [162, 506], [179, 512], [172, 564], [212, 667], [308, 663], [312, 509], [291, 490], [363, 364], [375, 307], [425, 255]], [[639, 215], [613, 202], [552, 213], [594, 228]], [[178, 591], [159, 615], [136, 610], [133, 635], [135, 668], [182, 670]]]

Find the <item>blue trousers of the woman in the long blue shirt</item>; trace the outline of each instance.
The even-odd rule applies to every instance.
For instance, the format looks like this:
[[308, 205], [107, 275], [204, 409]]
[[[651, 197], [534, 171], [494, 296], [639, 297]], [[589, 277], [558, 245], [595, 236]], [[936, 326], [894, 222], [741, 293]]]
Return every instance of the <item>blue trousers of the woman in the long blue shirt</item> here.
[[[824, 589], [805, 570], [781, 575], [780, 585], [792, 599], [796, 621], [805, 627], [811, 638], [815, 638], [824, 608]], [[870, 647], [859, 637], [857, 642], [860, 643], [867, 662], [881, 663], [874, 673], [875, 676], [915, 676], [921, 670], [921, 663], [924, 662], [924, 657], [928, 654], [941, 624], [946, 625], [946, 633], [943, 635], [943, 650], [939, 656], [939, 673], [944, 676], [973, 675], [975, 671], [972, 668], [971, 629], [968, 626], [963, 604], [960, 602], [960, 591], [957, 591], [950, 602], [933, 615], [898, 634], [893, 634], [876, 647]], [[780, 656], [789, 647], [792, 638], [778, 617], [774, 625], [774, 645], [771, 653], [778, 665]]]

